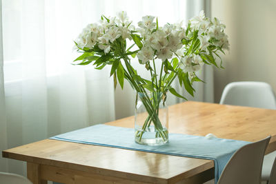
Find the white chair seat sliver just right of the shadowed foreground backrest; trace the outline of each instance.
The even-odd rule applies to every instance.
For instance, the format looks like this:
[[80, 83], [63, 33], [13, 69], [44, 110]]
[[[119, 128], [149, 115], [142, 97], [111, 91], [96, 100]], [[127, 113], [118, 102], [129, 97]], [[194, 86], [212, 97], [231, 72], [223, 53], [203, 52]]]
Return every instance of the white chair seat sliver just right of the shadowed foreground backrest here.
[[268, 181], [270, 178], [270, 172], [276, 157], [276, 151], [264, 156], [264, 163], [262, 168], [262, 181]]

